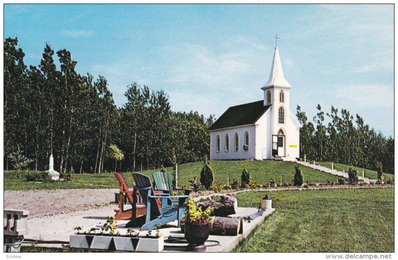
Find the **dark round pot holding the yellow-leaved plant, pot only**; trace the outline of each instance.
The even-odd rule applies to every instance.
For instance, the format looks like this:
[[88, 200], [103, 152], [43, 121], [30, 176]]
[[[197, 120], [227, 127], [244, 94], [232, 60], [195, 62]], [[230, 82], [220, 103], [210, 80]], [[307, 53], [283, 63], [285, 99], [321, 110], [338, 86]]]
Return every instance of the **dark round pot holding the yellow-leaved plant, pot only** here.
[[[209, 224], [185, 224], [185, 238], [189, 242], [189, 249], [193, 249], [193, 251], [205, 251], [206, 247], [204, 246], [204, 242], [208, 239], [208, 235], [210, 232]], [[199, 247], [201, 246], [201, 247]], [[204, 250], [203, 250], [204, 248]]]

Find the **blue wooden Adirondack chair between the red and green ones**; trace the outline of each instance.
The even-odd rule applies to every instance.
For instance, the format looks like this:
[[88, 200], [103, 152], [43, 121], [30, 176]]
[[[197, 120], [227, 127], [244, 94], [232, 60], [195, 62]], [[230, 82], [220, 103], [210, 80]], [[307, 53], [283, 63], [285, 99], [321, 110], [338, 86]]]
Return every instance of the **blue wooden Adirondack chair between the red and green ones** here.
[[[165, 225], [174, 220], [178, 220], [178, 227], [181, 227], [181, 217], [184, 215], [184, 202], [189, 196], [171, 196], [168, 193], [155, 194], [151, 179], [147, 175], [133, 173], [133, 178], [135, 187], [140, 192], [146, 206], [145, 224], [140, 230], [152, 230], [158, 224]], [[178, 199], [178, 205], [172, 205], [170, 199]]]

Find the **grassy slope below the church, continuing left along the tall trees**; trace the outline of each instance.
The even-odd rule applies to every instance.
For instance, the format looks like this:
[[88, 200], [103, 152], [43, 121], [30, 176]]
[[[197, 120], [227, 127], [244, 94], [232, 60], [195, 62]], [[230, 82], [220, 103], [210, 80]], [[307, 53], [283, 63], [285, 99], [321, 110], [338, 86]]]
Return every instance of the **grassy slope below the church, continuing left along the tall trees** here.
[[[227, 183], [227, 175], [232, 182], [233, 179], [240, 181], [243, 169], [246, 167], [250, 171], [252, 181], [264, 182], [273, 178], [280, 182], [290, 182], [294, 179], [295, 164], [283, 161], [211, 161], [210, 166], [214, 171], [214, 180], [222, 184]], [[195, 175], [200, 178], [200, 171], [203, 162], [182, 164], [179, 166], [179, 186], [189, 185], [189, 180]], [[336, 176], [328, 173], [315, 171], [308, 167], [300, 166], [304, 175], [304, 182], [309, 180], [315, 182], [337, 181]], [[166, 168], [168, 173], [173, 173], [173, 167]], [[143, 171], [144, 174], [151, 176], [156, 170]], [[131, 173], [122, 173], [127, 185], [132, 187], [133, 178]], [[27, 182], [22, 176], [20, 179], [14, 178], [12, 173], [4, 173], [4, 190], [30, 190], [30, 189], [72, 189], [72, 188], [118, 188], [116, 179], [112, 173], [103, 174], [73, 174], [72, 182], [58, 183], [37, 183]]]

